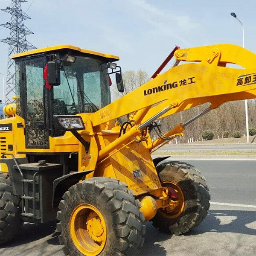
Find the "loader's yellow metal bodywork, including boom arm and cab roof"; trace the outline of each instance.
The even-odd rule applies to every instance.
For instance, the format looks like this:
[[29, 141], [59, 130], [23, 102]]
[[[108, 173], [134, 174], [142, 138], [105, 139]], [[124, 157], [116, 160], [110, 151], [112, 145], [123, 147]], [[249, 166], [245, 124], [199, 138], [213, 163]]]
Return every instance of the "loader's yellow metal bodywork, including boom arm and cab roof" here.
[[[74, 49], [105, 58], [119, 59], [117, 56], [103, 55], [67, 45], [21, 53], [14, 58], [56, 49]], [[152, 141], [148, 131], [141, 129], [140, 125], [167, 107], [169, 111], [158, 118], [207, 102], [210, 103], [210, 108], [214, 109], [224, 102], [256, 98], [256, 55], [253, 52], [236, 45], [218, 44], [178, 49], [174, 57], [180, 61], [176, 67], [95, 113], [79, 114], [85, 125], [84, 131], [79, 131], [79, 134], [90, 142], [87, 153], [70, 132], [66, 132], [62, 137], [50, 137], [49, 149], [26, 149], [23, 128], [17, 128], [16, 125], [17, 122], [24, 125], [24, 120], [17, 115], [0, 120], [0, 124], [12, 122], [14, 127], [10, 134], [3, 132], [1, 135], [9, 136], [9, 141], [15, 145], [13, 153], [16, 156], [19, 156], [19, 151], [49, 154], [78, 151], [78, 171], [94, 170], [86, 178], [115, 177], [125, 182], [137, 196], [148, 195], [157, 190], [162, 192], [163, 188], [151, 159], [151, 152], [166, 141], [161, 138]], [[240, 67], [226, 67], [230, 63]], [[250, 79], [246, 80], [246, 77]], [[249, 80], [251, 82], [248, 83]], [[134, 120], [133, 125], [119, 137], [120, 126], [115, 123], [115, 119], [127, 114]], [[177, 124], [165, 136], [174, 139], [182, 136], [184, 129], [182, 123]]]

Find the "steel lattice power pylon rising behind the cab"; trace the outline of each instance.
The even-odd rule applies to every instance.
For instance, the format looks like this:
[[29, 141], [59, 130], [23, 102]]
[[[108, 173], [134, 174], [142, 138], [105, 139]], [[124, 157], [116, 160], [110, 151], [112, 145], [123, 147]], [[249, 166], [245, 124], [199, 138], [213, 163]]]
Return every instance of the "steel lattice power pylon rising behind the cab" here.
[[27, 0], [12, 0], [12, 3], [6, 9], [1, 9], [3, 12], [8, 12], [12, 15], [11, 20], [5, 24], [1, 24], [7, 29], [10, 29], [10, 35], [6, 39], [0, 40], [5, 44], [9, 44], [9, 61], [7, 64], [7, 77], [6, 77], [6, 103], [12, 102], [12, 96], [15, 95], [15, 63], [12, 60], [12, 55], [19, 52], [26, 52], [36, 47], [26, 40], [26, 35], [34, 34], [26, 26], [24, 20], [29, 20], [30, 17], [26, 15], [21, 9], [21, 4]]

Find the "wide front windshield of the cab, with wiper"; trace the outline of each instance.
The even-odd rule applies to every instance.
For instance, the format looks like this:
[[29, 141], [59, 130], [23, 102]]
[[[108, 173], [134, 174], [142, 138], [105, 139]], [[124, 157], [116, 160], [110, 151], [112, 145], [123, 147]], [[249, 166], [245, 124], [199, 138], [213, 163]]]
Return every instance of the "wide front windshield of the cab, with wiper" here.
[[92, 113], [111, 102], [107, 63], [75, 56], [74, 63], [61, 57], [61, 84], [53, 88], [53, 112]]

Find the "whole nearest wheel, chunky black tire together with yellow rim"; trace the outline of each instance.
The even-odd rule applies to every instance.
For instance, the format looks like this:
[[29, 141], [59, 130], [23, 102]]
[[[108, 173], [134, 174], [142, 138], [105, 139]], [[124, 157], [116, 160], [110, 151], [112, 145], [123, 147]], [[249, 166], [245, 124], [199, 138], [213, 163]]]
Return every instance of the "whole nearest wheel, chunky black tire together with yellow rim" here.
[[[61, 232], [59, 241], [60, 244], [64, 244], [63, 250], [66, 255], [88, 254], [81, 247], [79, 250], [79, 243], [81, 244], [80, 241], [82, 241], [84, 248], [87, 247], [87, 241], [90, 241], [90, 238], [88, 239], [90, 231], [88, 230], [91, 227], [87, 223], [89, 223], [95, 212], [98, 212], [96, 220], [98, 217], [98, 219], [101, 219], [100, 223], [103, 230], [103, 223], [105, 223], [106, 239], [100, 238], [101, 242], [96, 242], [93, 245], [101, 247], [102, 242], [105, 241], [103, 249], [92, 252], [93, 255], [137, 255], [140, 252], [140, 248], [144, 243], [143, 236], [145, 235], [145, 225], [142, 223], [144, 215], [139, 210], [140, 201], [135, 200], [134, 193], [127, 187], [125, 183], [113, 178], [93, 177], [73, 185], [65, 192], [63, 195], [64, 200], [59, 204], [61, 210], [57, 214], [57, 219], [60, 221], [57, 224], [57, 230]], [[79, 207], [83, 206], [94, 209], [94, 212], [89, 214], [90, 209], [85, 209], [78, 214], [76, 225], [80, 225], [79, 229], [83, 231], [79, 231], [80, 233], [74, 236], [73, 230], [77, 229], [73, 229], [74, 225], [72, 223], [74, 219], [76, 220], [73, 215]], [[96, 234], [98, 232], [96, 235], [101, 237], [103, 236], [102, 231], [99, 232], [99, 230], [102, 227], [99, 226], [99, 222], [96, 220], [93, 220], [95, 229], [92, 233]], [[83, 234], [84, 239], [78, 239], [78, 243], [76, 240], [80, 234]], [[92, 238], [93, 236], [90, 235], [90, 237]]]

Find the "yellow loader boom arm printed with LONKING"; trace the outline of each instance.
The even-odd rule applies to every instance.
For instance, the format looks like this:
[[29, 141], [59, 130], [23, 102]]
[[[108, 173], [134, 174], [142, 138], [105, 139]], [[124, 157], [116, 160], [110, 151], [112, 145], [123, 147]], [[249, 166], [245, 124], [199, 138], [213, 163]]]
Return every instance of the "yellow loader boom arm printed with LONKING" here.
[[[256, 98], [256, 55], [253, 52], [236, 45], [218, 44], [177, 49], [174, 56], [180, 61], [198, 63], [172, 67], [151, 79], [93, 113], [90, 116], [92, 125], [135, 111], [138, 120], [145, 122], [174, 104], [175, 108], [159, 118], [206, 102], [211, 103], [211, 108], [218, 108], [224, 102]], [[243, 68], [226, 67], [227, 63]]]

